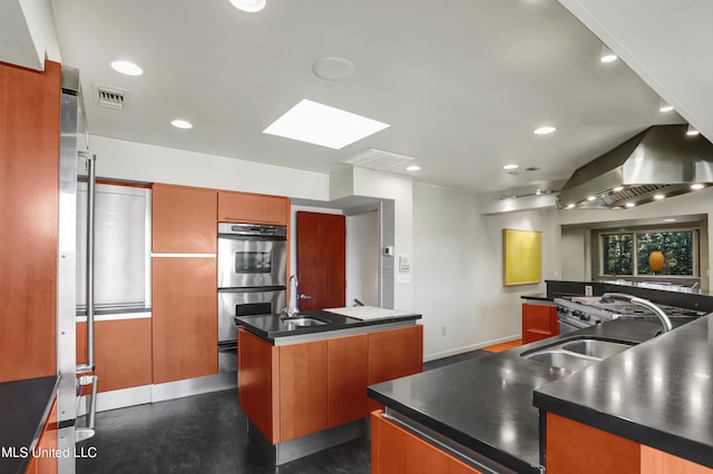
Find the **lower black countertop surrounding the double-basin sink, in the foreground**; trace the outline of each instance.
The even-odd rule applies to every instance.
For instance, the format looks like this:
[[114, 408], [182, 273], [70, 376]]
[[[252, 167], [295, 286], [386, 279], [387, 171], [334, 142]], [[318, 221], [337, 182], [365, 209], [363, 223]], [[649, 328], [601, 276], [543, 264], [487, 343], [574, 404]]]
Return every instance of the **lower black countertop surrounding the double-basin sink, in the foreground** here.
[[520, 354], [583, 336], [641, 343], [660, 327], [655, 318], [613, 320], [372, 385], [368, 393], [387, 407], [506, 467], [539, 473], [539, 415], [533, 406], [533, 392], [556, 387], [573, 373], [525, 359]]

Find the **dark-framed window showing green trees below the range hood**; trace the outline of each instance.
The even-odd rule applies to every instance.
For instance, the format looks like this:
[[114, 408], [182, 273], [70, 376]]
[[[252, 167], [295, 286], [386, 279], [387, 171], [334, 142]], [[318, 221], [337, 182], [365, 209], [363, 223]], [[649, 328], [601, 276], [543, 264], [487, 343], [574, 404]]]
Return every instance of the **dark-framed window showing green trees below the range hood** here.
[[[602, 234], [602, 275], [697, 277], [697, 229]], [[661, 269], [649, 267], [654, 251], [663, 254]]]

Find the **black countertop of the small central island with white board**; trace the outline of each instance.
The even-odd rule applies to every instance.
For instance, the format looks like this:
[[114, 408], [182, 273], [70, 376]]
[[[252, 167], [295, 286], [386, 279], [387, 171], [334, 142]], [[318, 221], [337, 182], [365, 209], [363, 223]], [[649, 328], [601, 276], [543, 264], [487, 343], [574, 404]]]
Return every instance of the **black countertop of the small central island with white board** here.
[[314, 333], [326, 333], [331, 330], [352, 329], [367, 326], [377, 326], [389, 323], [399, 323], [420, 319], [421, 315], [412, 313], [401, 316], [391, 316], [375, 319], [356, 319], [349, 316], [342, 316], [335, 313], [325, 310], [303, 312], [299, 314], [299, 317], [313, 317], [326, 322], [325, 325], [320, 326], [303, 326], [296, 328], [290, 328], [284, 323], [285, 315], [256, 315], [256, 316], [238, 316], [235, 317], [235, 322], [242, 325], [246, 330], [254, 335], [274, 342], [276, 338], [285, 336], [297, 336]]

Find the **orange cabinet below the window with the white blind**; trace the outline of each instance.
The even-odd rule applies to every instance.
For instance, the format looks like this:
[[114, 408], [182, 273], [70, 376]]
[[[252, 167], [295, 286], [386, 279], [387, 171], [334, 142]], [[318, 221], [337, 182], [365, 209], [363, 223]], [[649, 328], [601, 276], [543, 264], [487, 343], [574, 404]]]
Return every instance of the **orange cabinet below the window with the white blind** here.
[[[77, 324], [77, 363], [87, 361], [87, 324]], [[152, 319], [95, 323], [95, 374], [98, 391], [150, 385]]]

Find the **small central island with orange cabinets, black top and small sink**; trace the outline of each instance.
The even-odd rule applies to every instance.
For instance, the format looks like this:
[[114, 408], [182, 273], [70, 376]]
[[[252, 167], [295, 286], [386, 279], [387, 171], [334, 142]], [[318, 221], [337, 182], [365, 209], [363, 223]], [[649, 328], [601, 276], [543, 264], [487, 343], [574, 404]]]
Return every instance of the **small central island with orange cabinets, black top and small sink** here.
[[419, 318], [370, 307], [236, 317], [251, 438], [280, 465], [364, 436], [369, 412], [380, 407], [367, 386], [423, 368]]

